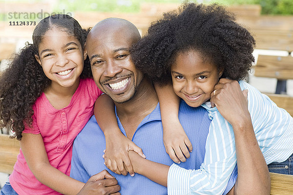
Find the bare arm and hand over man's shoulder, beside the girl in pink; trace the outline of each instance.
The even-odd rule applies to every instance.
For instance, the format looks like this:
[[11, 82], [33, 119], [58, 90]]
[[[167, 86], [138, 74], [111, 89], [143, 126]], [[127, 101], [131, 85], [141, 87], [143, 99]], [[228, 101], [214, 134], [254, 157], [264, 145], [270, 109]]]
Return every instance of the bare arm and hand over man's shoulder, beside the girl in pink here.
[[105, 165], [116, 174], [127, 175], [123, 163], [131, 176], [134, 176], [134, 171], [128, 156], [128, 151], [133, 150], [146, 157], [140, 147], [135, 145], [120, 131], [117, 118], [114, 111], [114, 103], [111, 98], [103, 94], [97, 98], [95, 103], [95, 117], [105, 134], [106, 151]]

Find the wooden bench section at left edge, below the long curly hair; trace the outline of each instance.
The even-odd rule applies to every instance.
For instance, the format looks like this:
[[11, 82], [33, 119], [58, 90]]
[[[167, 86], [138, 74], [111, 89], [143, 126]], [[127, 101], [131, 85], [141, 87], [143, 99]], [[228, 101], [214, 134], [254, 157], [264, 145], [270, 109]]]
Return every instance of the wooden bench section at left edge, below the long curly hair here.
[[20, 153], [20, 143], [8, 135], [0, 134], [0, 172], [11, 174], [17, 156]]

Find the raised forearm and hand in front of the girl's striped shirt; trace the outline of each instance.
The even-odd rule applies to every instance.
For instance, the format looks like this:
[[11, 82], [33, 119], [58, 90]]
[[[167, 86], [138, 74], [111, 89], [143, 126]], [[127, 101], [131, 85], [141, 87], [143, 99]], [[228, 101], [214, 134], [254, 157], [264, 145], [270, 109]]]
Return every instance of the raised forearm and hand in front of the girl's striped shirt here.
[[234, 131], [238, 177], [231, 193], [270, 194], [269, 170], [253, 131], [247, 93], [241, 91], [237, 81], [222, 78], [211, 94], [212, 105]]

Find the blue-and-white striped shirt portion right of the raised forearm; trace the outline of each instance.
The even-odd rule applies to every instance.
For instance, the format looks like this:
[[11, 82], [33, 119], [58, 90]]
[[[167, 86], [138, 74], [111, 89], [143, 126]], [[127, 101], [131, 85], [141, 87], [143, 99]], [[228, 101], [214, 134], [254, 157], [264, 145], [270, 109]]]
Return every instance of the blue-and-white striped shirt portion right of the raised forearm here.
[[287, 160], [293, 153], [293, 117], [247, 82], [239, 84], [242, 90], [248, 89], [248, 110], [267, 164]]

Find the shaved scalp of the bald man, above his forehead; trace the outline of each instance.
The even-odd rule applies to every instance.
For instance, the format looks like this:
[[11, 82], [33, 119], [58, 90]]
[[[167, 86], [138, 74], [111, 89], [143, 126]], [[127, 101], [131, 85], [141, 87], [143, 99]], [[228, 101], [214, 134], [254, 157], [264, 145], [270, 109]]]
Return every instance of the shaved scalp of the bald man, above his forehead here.
[[98, 22], [89, 32], [86, 42], [97, 36], [112, 35], [115, 33], [122, 33], [125, 39], [129, 39], [132, 44], [141, 39], [139, 31], [136, 26], [128, 20], [119, 18], [108, 18]]

